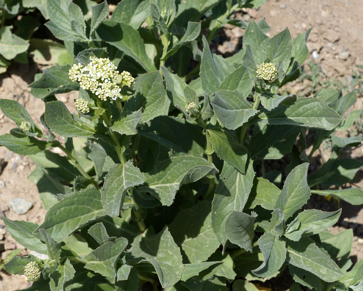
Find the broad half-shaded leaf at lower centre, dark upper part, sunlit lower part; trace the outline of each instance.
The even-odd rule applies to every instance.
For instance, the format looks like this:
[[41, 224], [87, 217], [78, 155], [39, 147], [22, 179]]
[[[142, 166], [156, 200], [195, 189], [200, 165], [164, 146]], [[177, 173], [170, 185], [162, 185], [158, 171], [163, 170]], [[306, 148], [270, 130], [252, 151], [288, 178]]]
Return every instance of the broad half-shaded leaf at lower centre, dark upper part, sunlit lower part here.
[[[175, 243], [192, 264], [206, 261], [220, 246], [211, 223], [211, 203], [204, 201], [192, 208], [180, 210], [168, 226]], [[184, 275], [183, 272], [183, 278]]]

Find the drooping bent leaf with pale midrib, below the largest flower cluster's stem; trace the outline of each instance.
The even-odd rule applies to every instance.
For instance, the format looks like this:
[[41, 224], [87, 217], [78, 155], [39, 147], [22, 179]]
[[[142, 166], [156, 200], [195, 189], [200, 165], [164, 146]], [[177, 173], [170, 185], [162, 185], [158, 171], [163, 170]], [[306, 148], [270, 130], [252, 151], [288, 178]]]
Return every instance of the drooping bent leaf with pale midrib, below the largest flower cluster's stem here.
[[101, 190], [101, 202], [109, 216], [119, 216], [126, 191], [145, 182], [145, 176], [131, 160], [126, 164], [114, 164], [105, 176]]

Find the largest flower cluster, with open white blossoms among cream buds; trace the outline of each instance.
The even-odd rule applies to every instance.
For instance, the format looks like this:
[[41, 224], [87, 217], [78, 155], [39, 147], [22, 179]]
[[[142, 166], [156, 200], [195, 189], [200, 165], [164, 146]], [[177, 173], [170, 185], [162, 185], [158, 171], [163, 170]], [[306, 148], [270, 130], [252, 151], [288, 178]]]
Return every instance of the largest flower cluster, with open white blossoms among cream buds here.
[[[85, 67], [80, 63], [74, 64], [68, 73], [69, 79], [77, 81], [82, 89], [90, 90], [105, 101], [109, 97], [113, 100], [122, 99], [121, 88], [115, 82], [111, 82], [112, 79], [118, 79], [118, 74], [117, 67], [109, 59], [98, 57], [90, 57], [90, 63]], [[135, 84], [129, 72], [123, 71], [121, 76], [121, 87]]]

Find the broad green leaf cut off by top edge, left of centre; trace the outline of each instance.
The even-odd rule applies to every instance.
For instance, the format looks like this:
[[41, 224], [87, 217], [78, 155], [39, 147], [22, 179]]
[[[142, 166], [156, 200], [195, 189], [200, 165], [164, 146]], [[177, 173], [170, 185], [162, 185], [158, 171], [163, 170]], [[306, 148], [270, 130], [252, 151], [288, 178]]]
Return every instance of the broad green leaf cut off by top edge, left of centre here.
[[138, 29], [150, 13], [149, 1], [123, 0], [112, 12], [111, 20], [123, 22]]

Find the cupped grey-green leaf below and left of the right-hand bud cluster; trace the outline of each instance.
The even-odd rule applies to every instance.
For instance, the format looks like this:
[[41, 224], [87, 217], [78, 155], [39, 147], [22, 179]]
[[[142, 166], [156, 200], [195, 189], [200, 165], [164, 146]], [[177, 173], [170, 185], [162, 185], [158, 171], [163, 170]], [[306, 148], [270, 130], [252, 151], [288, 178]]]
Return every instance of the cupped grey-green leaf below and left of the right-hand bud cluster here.
[[211, 104], [221, 124], [228, 129], [240, 127], [258, 112], [237, 91], [220, 90], [214, 94]]

